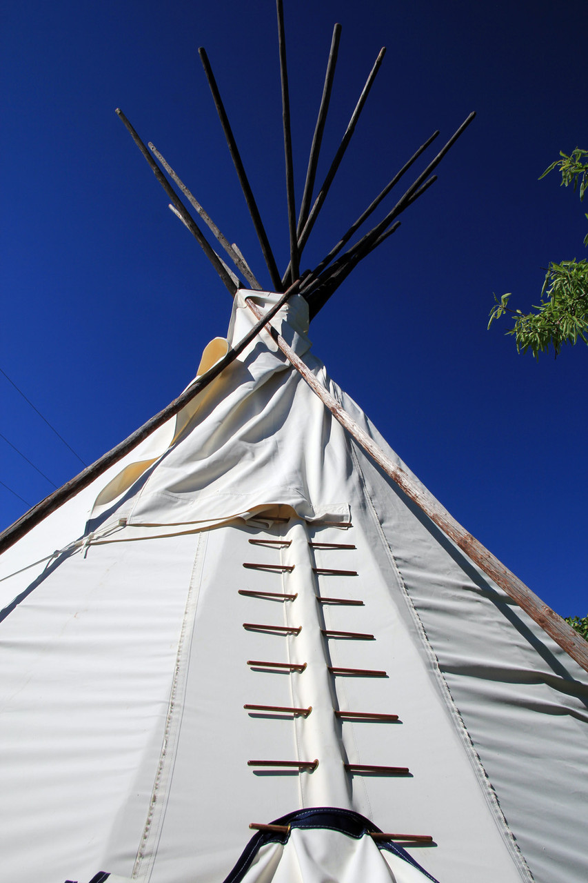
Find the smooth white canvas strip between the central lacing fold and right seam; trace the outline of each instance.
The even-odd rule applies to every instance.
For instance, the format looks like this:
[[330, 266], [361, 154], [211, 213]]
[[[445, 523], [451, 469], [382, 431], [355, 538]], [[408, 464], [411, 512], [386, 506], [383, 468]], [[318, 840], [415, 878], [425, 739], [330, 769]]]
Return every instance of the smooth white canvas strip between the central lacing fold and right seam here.
[[[372, 633], [375, 640], [331, 639], [329, 653], [334, 666], [383, 669], [388, 677], [337, 676], [336, 697], [342, 710], [398, 714], [400, 722], [343, 721], [343, 747], [350, 763], [408, 766], [411, 775], [353, 775], [351, 807], [382, 830], [432, 834], [438, 846], [426, 851], [424, 864], [438, 879], [489, 883], [499, 874], [519, 880], [484, 783], [431, 679], [396, 572], [357, 496], [357, 506], [351, 496], [353, 527], [340, 540], [357, 551], [317, 550], [316, 558], [320, 567], [335, 567], [336, 561], [358, 570], [358, 577], [319, 577], [320, 593], [364, 600], [364, 608], [323, 608], [326, 624]], [[336, 541], [335, 533], [342, 532], [321, 531], [320, 540]]]

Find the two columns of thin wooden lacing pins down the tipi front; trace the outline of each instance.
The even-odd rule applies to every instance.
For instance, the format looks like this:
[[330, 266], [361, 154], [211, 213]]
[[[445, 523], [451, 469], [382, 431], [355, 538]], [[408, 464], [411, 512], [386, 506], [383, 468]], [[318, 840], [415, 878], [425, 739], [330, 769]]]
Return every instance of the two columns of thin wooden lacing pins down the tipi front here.
[[[351, 525], [346, 525], [351, 526]], [[275, 548], [287, 548], [290, 546], [290, 540], [266, 540], [266, 539], [250, 539], [249, 542], [254, 546], [264, 546], [264, 547], [275, 547]], [[309, 541], [308, 544], [313, 549], [355, 549], [356, 547], [352, 543], [328, 543], [328, 542], [313, 542]], [[243, 565], [248, 570], [266, 570], [273, 573], [290, 573], [294, 570], [294, 564], [265, 564], [258, 562], [245, 562]], [[339, 570], [334, 568], [320, 568], [313, 567], [313, 573], [320, 576], [335, 576], [335, 577], [357, 577], [357, 570]], [[266, 592], [261, 590], [249, 590], [249, 589], [239, 589], [239, 594], [246, 595], [252, 598], [267, 598], [274, 600], [283, 600], [283, 601], [294, 601], [298, 597], [298, 592], [296, 593], [286, 593], [286, 592]], [[354, 600], [354, 599], [346, 599], [346, 598], [322, 598], [320, 595], [316, 595], [316, 600], [320, 604], [325, 605], [342, 605], [347, 607], [363, 607], [363, 600]], [[283, 635], [298, 635], [302, 630], [302, 626], [283, 626], [283, 625], [268, 625], [264, 623], [243, 623], [243, 627], [246, 630], [254, 630], [254, 631], [266, 631], [272, 633], [278, 633]], [[366, 632], [358, 632], [358, 631], [341, 631], [341, 630], [332, 630], [332, 629], [321, 629], [320, 630], [322, 636], [324, 638], [347, 638], [347, 639], [355, 639], [355, 640], [375, 640], [375, 637], [372, 634], [367, 634]], [[290, 674], [298, 673], [302, 674], [305, 671], [306, 663], [293, 663], [293, 662], [275, 662], [268, 660], [247, 660], [247, 665], [252, 668], [258, 669], [277, 669], [281, 671], [288, 671]], [[351, 676], [360, 676], [360, 677], [387, 677], [387, 672], [379, 669], [371, 669], [371, 668], [341, 668], [335, 666], [328, 666], [328, 671], [331, 675], [351, 675]], [[289, 713], [294, 716], [300, 717], [308, 717], [310, 713], [313, 711], [313, 707], [309, 706], [307, 708], [296, 708], [290, 706], [265, 706], [265, 705], [253, 705], [251, 703], [247, 703], [243, 706], [247, 711], [256, 711], [256, 712], [275, 712], [275, 713]], [[378, 713], [378, 712], [352, 712], [352, 711], [339, 711], [334, 709], [335, 717], [341, 720], [347, 721], [387, 721], [387, 722], [396, 722], [398, 721], [397, 714], [388, 714], [388, 713]], [[249, 760], [247, 762], [247, 766], [264, 766], [264, 767], [279, 767], [282, 769], [294, 768], [298, 769], [300, 772], [310, 772], [319, 766], [319, 759], [315, 758], [314, 760]], [[372, 774], [372, 775], [408, 775], [410, 773], [408, 767], [406, 766], [376, 766], [373, 764], [344, 764], [344, 769], [347, 773], [350, 774]], [[254, 830], [260, 831], [280, 831], [282, 833], [289, 832], [289, 826], [276, 826], [276, 825], [261, 825], [258, 823], [252, 823], [250, 828]], [[368, 832], [370, 836], [375, 840], [394, 840], [394, 841], [406, 841], [411, 843], [431, 843], [433, 842], [433, 838], [428, 834], [385, 834], [381, 832]]]

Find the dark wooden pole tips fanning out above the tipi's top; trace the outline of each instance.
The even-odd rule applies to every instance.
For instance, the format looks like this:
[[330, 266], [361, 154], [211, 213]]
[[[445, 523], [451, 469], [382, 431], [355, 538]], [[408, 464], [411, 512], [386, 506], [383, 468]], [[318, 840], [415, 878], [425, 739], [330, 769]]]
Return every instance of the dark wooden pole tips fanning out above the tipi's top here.
[[[341, 162], [343, 161], [343, 156], [345, 155], [345, 152], [350, 145], [351, 138], [353, 136], [353, 133], [355, 132], [356, 126], [358, 125], [359, 117], [364, 109], [367, 97], [373, 87], [373, 82], [381, 68], [381, 64], [386, 53], [386, 47], [381, 48], [373, 63], [372, 69], [366, 79], [366, 83], [359, 94], [358, 102], [353, 109], [349, 123], [347, 124], [345, 132], [343, 133], [343, 138], [335, 151], [335, 155], [332, 161], [330, 162], [327, 175], [320, 185], [318, 191], [315, 193], [315, 180], [319, 162], [320, 147], [325, 130], [325, 125], [327, 122], [328, 107], [335, 78], [335, 65], [342, 33], [342, 26], [340, 24], [335, 24], [333, 29], [331, 47], [328, 54], [328, 64], [325, 73], [322, 96], [320, 100], [319, 113], [314, 128], [313, 142], [308, 158], [304, 192], [300, 200], [297, 215], [297, 207], [295, 205], [295, 179], [292, 153], [292, 132], [290, 125], [290, 91], [288, 69], [286, 64], [286, 39], [283, 20], [283, 0], [277, 0], [276, 10], [278, 24], [280, 79], [282, 84], [282, 116], [284, 157], [286, 169], [286, 195], [288, 207], [288, 227], [290, 236], [290, 260], [288, 262], [288, 266], [283, 271], [283, 274], [280, 274], [278, 270], [275, 255], [269, 242], [268, 232], [261, 220], [260, 210], [258, 208], [257, 201], [255, 200], [255, 197], [253, 195], [253, 188], [245, 172], [245, 166], [237, 147], [237, 140], [233, 129], [231, 128], [224, 103], [222, 102], [222, 97], [216, 83], [215, 74], [212, 70], [212, 65], [210, 64], [210, 60], [207, 56], [207, 51], [206, 49], [204, 49], [204, 47], [200, 46], [198, 52], [207, 78], [208, 86], [215, 102], [215, 108], [222, 125], [222, 131], [224, 133], [225, 140], [227, 141], [227, 146], [229, 147], [230, 156], [237, 172], [238, 181], [243, 191], [245, 202], [253, 221], [253, 227], [260, 242], [261, 252], [263, 253], [266, 268], [271, 280], [271, 288], [273, 291], [281, 293], [285, 291], [288, 285], [300, 275], [299, 264], [302, 260], [305, 245], [311, 235], [313, 226], [320, 214], [320, 210], [323, 207], [325, 200], [327, 199], [328, 192], [334, 182], [336, 172], [339, 169]], [[259, 273], [253, 274], [253, 271], [250, 269], [251, 265], [245, 260], [245, 258], [236, 246], [230, 245], [229, 240], [222, 235], [221, 230], [219, 230], [217, 225], [212, 221], [210, 215], [207, 214], [204, 208], [202, 208], [202, 206], [200, 205], [200, 202], [196, 200], [196, 198], [192, 195], [192, 192], [188, 190], [188, 188], [183, 184], [180, 178], [177, 177], [175, 171], [170, 168], [170, 165], [163, 159], [159, 151], [156, 150], [151, 142], [149, 142], [149, 149], [147, 149], [143, 141], [139, 138], [138, 133], [132, 127], [129, 120], [124, 116], [124, 113], [120, 108], [117, 108], [117, 114], [119, 117], [121, 117], [127, 130], [131, 133], [132, 139], [139, 147], [141, 153], [145, 156], [147, 162], [149, 163], [149, 166], [151, 167], [151, 170], [155, 174], [155, 177], [157, 177], [157, 180], [170, 197], [173, 204], [173, 210], [180, 218], [180, 220], [185, 223], [185, 226], [188, 228], [188, 230], [192, 232], [192, 235], [194, 236], [194, 238], [196, 238], [200, 247], [207, 255], [208, 260], [210, 260], [216, 272], [221, 277], [222, 282], [230, 291], [230, 294], [234, 295], [238, 287], [251, 287], [252, 289], [257, 290], [265, 288], [265, 286], [258, 282], [258, 279], [260, 278]], [[441, 159], [444, 157], [444, 155], [446, 155], [449, 151], [449, 148], [455, 144], [456, 140], [463, 134], [468, 125], [471, 124], [471, 121], [474, 117], [475, 113], [471, 113], [468, 117], [465, 118], [464, 123], [458, 127], [458, 129], [451, 136], [445, 147], [441, 149], [441, 152], [437, 154], [433, 158], [432, 162], [428, 163], [425, 170], [422, 171], [418, 175], [418, 177], [415, 178], [413, 183], [405, 190], [400, 200], [396, 201], [396, 205], [388, 211], [388, 214], [385, 215], [381, 219], [381, 221], [379, 221], [371, 230], [368, 230], [366, 233], [360, 236], [360, 238], [358, 238], [358, 240], [353, 245], [351, 245], [351, 247], [349, 247], [346, 252], [338, 256], [343, 250], [343, 246], [346, 245], [353, 238], [354, 234], [366, 223], [368, 217], [372, 215], [376, 208], [380, 206], [382, 200], [384, 200], [388, 196], [388, 193], [398, 184], [403, 175], [411, 168], [411, 165], [418, 160], [420, 155], [422, 155], [426, 151], [426, 148], [429, 147], [433, 140], [439, 135], [438, 130], [433, 132], [433, 134], [425, 141], [425, 143], [422, 144], [421, 147], [418, 147], [418, 149], [410, 157], [410, 159], [404, 163], [403, 167], [398, 172], [396, 172], [396, 175], [394, 175], [394, 177], [390, 179], [388, 184], [383, 187], [381, 192], [379, 192], [376, 197], [369, 203], [367, 208], [361, 213], [361, 215], [358, 216], [358, 219], [351, 224], [351, 227], [343, 233], [343, 236], [341, 236], [335, 242], [335, 245], [328, 251], [325, 257], [320, 260], [314, 268], [309, 268], [305, 270], [305, 274], [303, 275], [303, 282], [300, 287], [300, 293], [308, 301], [311, 319], [316, 313], [319, 312], [320, 308], [324, 306], [328, 298], [331, 297], [331, 295], [335, 292], [335, 290], [343, 282], [343, 280], [351, 273], [351, 271], [355, 267], [357, 267], [358, 263], [361, 260], [364, 260], [364, 258], [366, 258], [368, 254], [372, 253], [374, 249], [381, 245], [385, 239], [387, 239], [398, 229], [398, 216], [402, 215], [403, 212], [407, 208], [409, 208], [409, 206], [411, 206], [413, 202], [418, 200], [418, 198], [422, 196], [423, 193], [426, 192], [426, 190], [431, 185], [434, 184], [434, 182], [436, 181], [436, 176], [432, 175], [433, 169], [436, 168], [436, 166], [441, 162]], [[149, 150], [151, 151], [151, 153], [149, 153]], [[154, 155], [157, 162], [155, 162]], [[168, 177], [166, 177], [166, 175]], [[168, 180], [168, 178], [170, 178], [170, 181]], [[174, 190], [172, 184], [177, 186], [180, 193], [177, 193]], [[200, 218], [207, 224], [207, 227], [212, 232], [216, 243], [218, 245], [221, 245], [224, 251], [227, 253], [231, 263], [234, 266], [234, 271], [230, 269], [229, 266], [225, 264], [224, 260], [222, 260], [216, 253], [216, 245], [213, 247], [213, 245], [208, 242], [207, 238], [200, 230], [200, 227], [192, 217], [190, 210], [186, 207], [185, 202], [182, 200], [180, 194], [182, 194], [184, 199], [190, 203], [192, 208], [196, 210], [196, 213], [200, 215]], [[240, 277], [242, 277], [243, 282], [241, 281], [239, 274]]]

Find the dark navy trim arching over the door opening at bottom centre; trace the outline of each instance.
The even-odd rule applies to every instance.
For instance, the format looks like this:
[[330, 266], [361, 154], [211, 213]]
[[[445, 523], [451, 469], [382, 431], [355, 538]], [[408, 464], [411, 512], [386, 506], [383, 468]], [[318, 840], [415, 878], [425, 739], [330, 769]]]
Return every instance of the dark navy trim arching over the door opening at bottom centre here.
[[[356, 840], [359, 840], [360, 837], [363, 837], [364, 834], [369, 834], [371, 831], [381, 834], [379, 827], [373, 825], [373, 823], [369, 821], [369, 819], [366, 819], [365, 816], [360, 816], [358, 812], [353, 812], [351, 810], [338, 810], [330, 806], [315, 806], [309, 810], [289, 812], [288, 815], [282, 816], [281, 819], [275, 819], [271, 824], [290, 825], [290, 829], [326, 828], [330, 831], [338, 831], [340, 834], [346, 834], [348, 837], [353, 837]], [[287, 833], [279, 831], [258, 831], [247, 843], [237, 864], [223, 883], [239, 883], [239, 881], [244, 878], [245, 873], [249, 870], [258, 849], [265, 846], [266, 843], [287, 843], [289, 838], [290, 831]], [[414, 858], [410, 856], [402, 846], [398, 846], [391, 840], [378, 840], [373, 842], [378, 849], [386, 849], [388, 852], [392, 852], [395, 856], [402, 858], [405, 862], [411, 864], [413, 868], [416, 868], [422, 874], [425, 874], [432, 883], [438, 883], [438, 880], [434, 879], [431, 874], [427, 873], [425, 868], [422, 868], [418, 862], [415, 862]], [[94, 880], [91, 880], [90, 883], [94, 883]]]

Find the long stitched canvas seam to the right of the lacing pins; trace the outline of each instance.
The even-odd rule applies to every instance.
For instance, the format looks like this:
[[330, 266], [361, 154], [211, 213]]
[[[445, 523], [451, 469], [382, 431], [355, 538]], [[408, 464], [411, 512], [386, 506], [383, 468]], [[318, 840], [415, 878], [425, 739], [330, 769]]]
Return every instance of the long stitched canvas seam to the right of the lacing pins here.
[[531, 874], [531, 869], [529, 868], [528, 864], [526, 863], [524, 856], [523, 856], [521, 850], [519, 849], [518, 844], [516, 843], [516, 839], [515, 839], [514, 834], [510, 831], [508, 822], [504, 816], [504, 813], [501, 810], [500, 804], [498, 803], [498, 798], [496, 796], [494, 788], [488, 778], [488, 775], [486, 774], [486, 769], [485, 769], [484, 765], [482, 764], [481, 759], [479, 758], [478, 752], [476, 751], [473, 743], [471, 742], [471, 736], [468, 733], [467, 728], [465, 727], [462, 715], [456, 706], [453, 696], [451, 695], [451, 691], [449, 690], [449, 684], [447, 683], [447, 681], [445, 680], [445, 677], [443, 676], [443, 673], [441, 672], [439, 660], [437, 659], [437, 656], [433, 651], [433, 647], [431, 646], [431, 643], [426, 635], [425, 627], [424, 627], [424, 625], [418, 615], [417, 609], [415, 608], [415, 606], [412, 602], [411, 596], [408, 593], [406, 585], [404, 584], [404, 580], [403, 580], [402, 574], [400, 572], [400, 569], [398, 568], [394, 553], [393, 553], [392, 549], [390, 548], [390, 545], [388, 543], [388, 540], [386, 539], [385, 533], [382, 530], [382, 526], [381, 526], [380, 519], [377, 514], [377, 510], [375, 508], [372, 496], [369, 493], [369, 490], [367, 487], [366, 477], [365, 477], [364, 472], [361, 468], [361, 465], [359, 464], [357, 452], [355, 451], [353, 445], [351, 444], [351, 440], [347, 436], [346, 436], [346, 441], [348, 442], [350, 449], [351, 449], [351, 457], [357, 466], [358, 474], [360, 476], [360, 480], [361, 480], [362, 486], [364, 488], [364, 492], [366, 494], [366, 499], [369, 501], [370, 510], [372, 513], [373, 520], [374, 520], [375, 524], [377, 525], [377, 530], [378, 530], [378, 533], [380, 534], [380, 538], [383, 543], [384, 549], [385, 549], [386, 553], [388, 554], [388, 557], [389, 557], [390, 562], [392, 564], [393, 570], [396, 573], [396, 578], [398, 580], [398, 585], [401, 589], [401, 594], [403, 596], [404, 602], [409, 610], [409, 613], [411, 615], [413, 622], [415, 623], [415, 625], [417, 627], [418, 636], [421, 640], [421, 644], [423, 645], [425, 652], [426, 652], [426, 656], [429, 660], [429, 664], [431, 667], [431, 671], [433, 673], [435, 683], [437, 685], [437, 689], [438, 689], [439, 693], [441, 694], [441, 698], [443, 699], [445, 706], [448, 708], [449, 716], [454, 723], [454, 726], [456, 728], [456, 732], [460, 738], [460, 741], [464, 745], [466, 755], [469, 758], [471, 766], [474, 771], [474, 774], [476, 775], [476, 778], [479, 781], [480, 789], [482, 790], [482, 793], [484, 794], [484, 796], [486, 798], [486, 804], [488, 805], [488, 808], [490, 809], [491, 815], [494, 819], [494, 823], [496, 824], [496, 826], [498, 827], [498, 829], [501, 833], [502, 840], [504, 841], [504, 843], [509, 851], [510, 856], [513, 858], [515, 866], [516, 866], [516, 870], [519, 872], [521, 878], [524, 879], [525, 881], [527, 881], [527, 883], [529, 883], [529, 881], [534, 881], [534, 878]]

